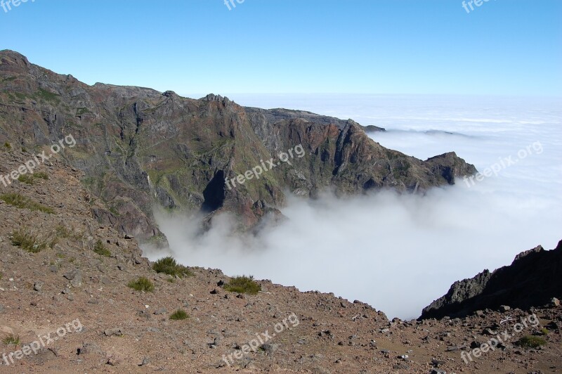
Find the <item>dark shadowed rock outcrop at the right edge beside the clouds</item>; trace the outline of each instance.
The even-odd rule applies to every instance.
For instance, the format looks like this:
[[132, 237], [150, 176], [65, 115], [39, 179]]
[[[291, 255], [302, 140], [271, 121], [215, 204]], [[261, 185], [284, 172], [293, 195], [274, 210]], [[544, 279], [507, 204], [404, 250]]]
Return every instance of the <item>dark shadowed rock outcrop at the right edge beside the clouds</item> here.
[[447, 295], [424, 308], [420, 318], [466, 316], [502, 305], [519, 309], [542, 307], [562, 296], [562, 241], [556, 249], [538, 246], [518, 254], [510, 266], [455, 282]]

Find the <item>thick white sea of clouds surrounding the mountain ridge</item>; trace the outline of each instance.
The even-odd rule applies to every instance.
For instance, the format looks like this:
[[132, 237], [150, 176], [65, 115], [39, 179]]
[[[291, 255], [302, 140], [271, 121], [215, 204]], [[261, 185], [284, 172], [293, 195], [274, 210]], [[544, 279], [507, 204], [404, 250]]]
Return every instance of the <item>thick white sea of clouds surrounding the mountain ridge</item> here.
[[[388, 131], [374, 141], [426, 159], [454, 150], [483, 172], [425, 196], [289, 198], [284, 224], [256, 238], [228, 233], [232, 217], [197, 236], [195, 217], [156, 212], [171, 254], [189, 266], [334, 292], [415, 318], [456, 280], [511, 264], [562, 240], [562, 101], [483, 96], [231, 95], [241, 105], [309, 110]], [[521, 150], [525, 150], [524, 155]], [[512, 165], [507, 166], [508, 163]], [[497, 167], [496, 167], [497, 169]], [[167, 253], [147, 249], [150, 259]]]

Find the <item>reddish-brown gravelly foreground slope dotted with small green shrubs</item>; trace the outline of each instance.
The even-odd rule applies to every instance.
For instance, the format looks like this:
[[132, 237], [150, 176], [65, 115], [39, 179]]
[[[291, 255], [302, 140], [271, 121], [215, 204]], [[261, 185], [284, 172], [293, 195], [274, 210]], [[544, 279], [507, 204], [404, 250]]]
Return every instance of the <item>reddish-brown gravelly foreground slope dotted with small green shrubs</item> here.
[[[33, 157], [15, 146], [2, 147], [0, 174]], [[231, 278], [220, 270], [192, 268], [193, 275], [185, 278], [158, 274], [135, 238], [98, 224], [92, 212], [103, 209], [103, 201], [81, 187], [83, 172], [65, 158], [64, 152], [51, 157], [31, 179], [0, 184], [0, 373], [555, 373], [562, 368], [561, 307], [388, 321], [365, 303], [268, 280], [257, 281], [263, 292], [256, 295], [227, 292], [221, 285]], [[32, 252], [24, 249], [29, 240]], [[127, 287], [141, 276], [154, 290]], [[178, 309], [188, 318], [172, 320]], [[515, 323], [531, 314], [537, 323], [515, 333]], [[511, 337], [501, 347], [464, 362], [461, 352], [504, 330]], [[529, 336], [545, 344], [516, 345]], [[247, 344], [259, 347], [254, 352]]]

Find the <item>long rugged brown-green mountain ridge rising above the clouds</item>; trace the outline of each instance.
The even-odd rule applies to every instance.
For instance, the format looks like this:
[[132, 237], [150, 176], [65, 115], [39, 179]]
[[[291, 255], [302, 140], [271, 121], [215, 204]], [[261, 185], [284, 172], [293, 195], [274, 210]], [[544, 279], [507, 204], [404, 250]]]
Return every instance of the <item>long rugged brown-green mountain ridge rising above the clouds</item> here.
[[[89, 86], [0, 51], [0, 141], [34, 150], [68, 134], [77, 146], [66, 161], [110, 206], [93, 213], [141, 240], [165, 240], [152, 219], [154, 202], [201, 209], [209, 219], [234, 212], [244, 230], [278, 214], [285, 190], [311, 197], [325, 188], [424, 191], [476, 172], [455, 153], [421, 161], [388, 150], [353, 120], [244, 108], [215, 95], [193, 100], [171, 91]], [[303, 156], [281, 162], [280, 153], [296, 146]], [[268, 160], [276, 166], [259, 179], [226, 185]]]

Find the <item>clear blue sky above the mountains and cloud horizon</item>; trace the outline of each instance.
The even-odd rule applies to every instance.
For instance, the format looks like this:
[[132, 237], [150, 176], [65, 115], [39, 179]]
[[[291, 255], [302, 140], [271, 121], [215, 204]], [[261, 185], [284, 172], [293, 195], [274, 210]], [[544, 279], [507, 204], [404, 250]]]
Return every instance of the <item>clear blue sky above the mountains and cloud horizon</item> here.
[[233, 2], [28, 0], [0, 7], [0, 49], [183, 95], [562, 96], [561, 0]]

